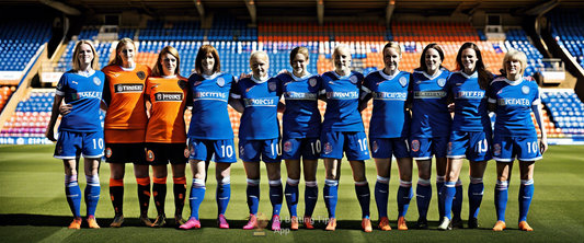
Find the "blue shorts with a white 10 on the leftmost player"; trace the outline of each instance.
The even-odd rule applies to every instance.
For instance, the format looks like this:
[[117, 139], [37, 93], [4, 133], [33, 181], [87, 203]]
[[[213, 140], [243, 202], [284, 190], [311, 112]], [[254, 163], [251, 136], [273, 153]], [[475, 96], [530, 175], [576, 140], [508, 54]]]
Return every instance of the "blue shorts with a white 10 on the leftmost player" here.
[[83, 154], [83, 158], [100, 159], [103, 157], [103, 131], [75, 132], [64, 130], [59, 131], [53, 157], [61, 160], [75, 160]]

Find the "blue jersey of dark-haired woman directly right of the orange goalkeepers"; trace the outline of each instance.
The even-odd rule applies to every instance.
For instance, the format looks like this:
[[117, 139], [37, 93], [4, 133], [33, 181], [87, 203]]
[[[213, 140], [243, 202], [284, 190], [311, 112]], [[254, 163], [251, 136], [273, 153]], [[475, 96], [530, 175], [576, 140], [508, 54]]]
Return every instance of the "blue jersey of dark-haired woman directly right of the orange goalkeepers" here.
[[193, 92], [193, 117], [187, 137], [208, 140], [233, 138], [227, 104], [234, 83], [233, 76], [225, 72], [216, 72], [210, 77], [193, 73], [188, 77]]

